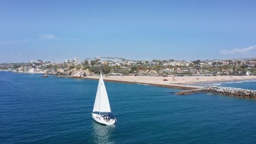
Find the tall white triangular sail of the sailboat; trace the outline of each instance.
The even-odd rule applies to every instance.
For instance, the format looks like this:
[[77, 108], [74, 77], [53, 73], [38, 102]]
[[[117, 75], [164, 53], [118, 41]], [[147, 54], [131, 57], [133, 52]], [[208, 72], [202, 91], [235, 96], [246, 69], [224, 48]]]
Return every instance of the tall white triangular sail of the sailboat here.
[[98, 81], [98, 89], [96, 93], [96, 98], [94, 102], [94, 110], [92, 112], [111, 112], [110, 105], [108, 101], [107, 90], [103, 81], [102, 75]]

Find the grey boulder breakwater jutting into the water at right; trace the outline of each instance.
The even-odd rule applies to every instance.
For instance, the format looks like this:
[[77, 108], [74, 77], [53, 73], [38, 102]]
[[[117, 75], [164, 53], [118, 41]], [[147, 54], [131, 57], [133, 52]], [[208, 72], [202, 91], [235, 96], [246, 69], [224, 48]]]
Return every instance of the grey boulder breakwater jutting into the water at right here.
[[204, 87], [204, 91], [208, 93], [218, 93], [240, 98], [256, 99], [256, 91], [250, 89], [207, 86]]

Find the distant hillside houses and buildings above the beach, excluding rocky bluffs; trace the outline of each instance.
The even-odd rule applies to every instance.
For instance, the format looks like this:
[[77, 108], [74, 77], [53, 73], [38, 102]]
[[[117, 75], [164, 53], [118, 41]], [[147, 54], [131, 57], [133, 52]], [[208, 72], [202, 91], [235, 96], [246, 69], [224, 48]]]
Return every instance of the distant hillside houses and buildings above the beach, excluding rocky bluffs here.
[[[107, 60], [103, 60], [109, 58]], [[110, 73], [142, 73], [141, 71], [155, 70], [159, 75], [246, 75], [246, 71], [251, 71], [251, 75], [256, 75], [256, 59], [238, 59], [238, 60], [218, 60], [212, 61], [174, 61], [171, 60], [152, 60], [152, 61], [136, 61], [126, 60], [123, 58], [101, 57], [87, 58], [88, 63], [79, 62], [78, 57], [73, 59], [65, 59], [64, 62], [44, 62], [42, 59], [38, 61], [30, 61], [28, 63], [3, 63], [0, 64], [0, 70], [15, 69], [16, 71], [57, 71], [64, 73], [70, 66], [78, 68], [88, 68], [90, 66], [108, 67]], [[86, 67], [85, 67], [86, 66]], [[89, 67], [88, 67], [89, 66]], [[135, 68], [136, 67], [136, 68]], [[131, 71], [132, 69], [132, 71]], [[136, 70], [134, 70], [136, 69]]]

